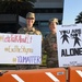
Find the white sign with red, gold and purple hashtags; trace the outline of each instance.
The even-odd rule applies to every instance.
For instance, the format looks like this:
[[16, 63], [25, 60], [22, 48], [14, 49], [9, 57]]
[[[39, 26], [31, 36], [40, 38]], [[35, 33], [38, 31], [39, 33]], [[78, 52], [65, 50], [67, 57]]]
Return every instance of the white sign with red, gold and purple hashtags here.
[[0, 65], [42, 63], [42, 35], [0, 34]]

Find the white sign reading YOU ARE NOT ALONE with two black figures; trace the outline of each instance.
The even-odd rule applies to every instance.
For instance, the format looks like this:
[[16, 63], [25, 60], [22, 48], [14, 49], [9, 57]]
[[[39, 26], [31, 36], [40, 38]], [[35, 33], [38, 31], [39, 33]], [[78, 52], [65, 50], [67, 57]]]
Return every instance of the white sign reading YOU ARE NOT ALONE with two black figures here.
[[59, 67], [82, 66], [82, 24], [57, 27]]

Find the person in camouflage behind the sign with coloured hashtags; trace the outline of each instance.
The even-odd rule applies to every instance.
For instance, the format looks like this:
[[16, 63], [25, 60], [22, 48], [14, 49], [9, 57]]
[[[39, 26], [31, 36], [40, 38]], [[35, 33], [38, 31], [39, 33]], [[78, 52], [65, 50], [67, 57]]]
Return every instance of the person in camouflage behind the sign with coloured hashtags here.
[[[40, 31], [36, 30], [33, 24], [35, 22], [35, 13], [28, 12], [26, 14], [26, 27], [21, 27], [17, 34], [28, 34], [28, 35], [42, 35]], [[17, 69], [38, 69], [38, 65], [17, 65]]]

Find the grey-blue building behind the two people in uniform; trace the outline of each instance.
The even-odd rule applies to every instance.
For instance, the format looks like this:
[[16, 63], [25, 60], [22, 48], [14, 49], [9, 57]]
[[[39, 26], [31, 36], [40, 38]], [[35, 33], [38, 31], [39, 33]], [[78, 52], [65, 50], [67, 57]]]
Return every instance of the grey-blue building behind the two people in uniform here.
[[[35, 26], [39, 28], [44, 35], [49, 32], [49, 19], [57, 17], [59, 20], [59, 24], [62, 24], [63, 0], [35, 0], [33, 4], [34, 12], [36, 14]], [[25, 17], [23, 16], [15, 14], [0, 14], [1, 33], [16, 33], [19, 30], [19, 25], [25, 26]]]

